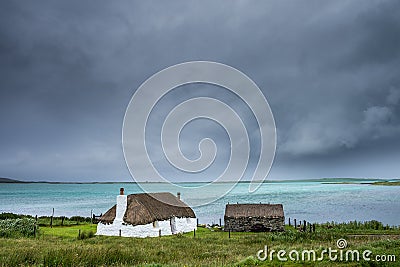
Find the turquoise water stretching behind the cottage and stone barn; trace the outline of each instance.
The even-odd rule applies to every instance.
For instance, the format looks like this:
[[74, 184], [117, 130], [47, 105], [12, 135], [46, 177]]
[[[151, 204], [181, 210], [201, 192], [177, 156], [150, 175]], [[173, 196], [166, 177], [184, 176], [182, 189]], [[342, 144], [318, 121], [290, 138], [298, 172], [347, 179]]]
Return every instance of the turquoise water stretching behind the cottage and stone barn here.
[[[193, 186], [186, 184], [185, 186]], [[115, 204], [119, 188], [127, 194], [142, 192], [134, 183], [121, 184], [0, 184], [0, 212], [55, 216], [89, 217], [104, 213]], [[215, 185], [218, 191], [218, 184]], [[168, 191], [165, 184], [152, 184], [151, 191]], [[176, 192], [171, 192], [176, 193]], [[190, 205], [207, 202], [215, 192], [190, 195], [182, 191]], [[282, 203], [285, 217], [310, 222], [378, 220], [400, 225], [400, 187], [367, 184], [323, 184], [320, 182], [265, 183], [248, 193], [240, 183], [226, 196], [211, 204], [193, 208], [200, 223], [217, 223], [227, 203]]]

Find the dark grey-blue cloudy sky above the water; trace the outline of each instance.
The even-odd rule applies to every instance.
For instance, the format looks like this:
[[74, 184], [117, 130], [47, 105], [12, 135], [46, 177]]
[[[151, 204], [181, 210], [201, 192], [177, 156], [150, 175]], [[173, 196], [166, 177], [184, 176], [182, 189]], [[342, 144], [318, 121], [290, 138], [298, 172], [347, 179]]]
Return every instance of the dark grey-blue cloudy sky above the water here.
[[[277, 131], [269, 179], [399, 178], [396, 0], [1, 1], [0, 177], [132, 181], [121, 144], [131, 97], [158, 71], [196, 60], [242, 71], [268, 100]], [[152, 162], [176, 181], [212, 180], [229, 158], [226, 131], [203, 120], [180, 141], [196, 158], [198, 142], [214, 139], [220, 154], [208, 172], [193, 178], [163, 162], [164, 113], [199, 91], [257, 133], [223, 88], [177, 88], [152, 111], [147, 140]]]

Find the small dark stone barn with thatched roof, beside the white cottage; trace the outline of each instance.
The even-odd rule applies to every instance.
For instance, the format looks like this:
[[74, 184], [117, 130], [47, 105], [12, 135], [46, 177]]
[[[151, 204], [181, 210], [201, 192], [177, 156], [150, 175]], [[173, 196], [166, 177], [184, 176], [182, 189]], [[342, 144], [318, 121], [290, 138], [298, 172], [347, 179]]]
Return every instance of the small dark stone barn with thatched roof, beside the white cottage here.
[[275, 232], [284, 231], [282, 204], [227, 204], [225, 231]]

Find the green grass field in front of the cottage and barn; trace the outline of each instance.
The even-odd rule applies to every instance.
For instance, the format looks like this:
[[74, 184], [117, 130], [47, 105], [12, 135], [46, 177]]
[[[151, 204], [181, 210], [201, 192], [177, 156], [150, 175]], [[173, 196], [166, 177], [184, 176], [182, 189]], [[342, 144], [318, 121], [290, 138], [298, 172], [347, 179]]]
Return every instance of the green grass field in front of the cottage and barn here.
[[[317, 225], [315, 233], [286, 227], [283, 233], [231, 233], [198, 228], [193, 233], [155, 238], [93, 236], [96, 225], [40, 227], [34, 237], [0, 238], [1, 266], [400, 266], [400, 230], [381, 224]], [[78, 239], [79, 231], [85, 233]], [[345, 238], [346, 249], [375, 255], [395, 255], [395, 262], [376, 261], [260, 261], [257, 251], [337, 249]], [[317, 254], [319, 255], [319, 254]]]

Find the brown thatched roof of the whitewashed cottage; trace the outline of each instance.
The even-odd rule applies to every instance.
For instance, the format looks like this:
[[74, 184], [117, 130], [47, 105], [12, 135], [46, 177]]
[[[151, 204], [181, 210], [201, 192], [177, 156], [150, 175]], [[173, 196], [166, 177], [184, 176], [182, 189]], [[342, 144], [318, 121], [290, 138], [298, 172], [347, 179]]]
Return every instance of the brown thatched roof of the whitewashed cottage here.
[[[102, 223], [112, 223], [116, 205], [101, 218]], [[124, 222], [132, 225], [164, 221], [172, 217], [195, 218], [193, 210], [171, 193], [143, 193], [128, 195]]]

